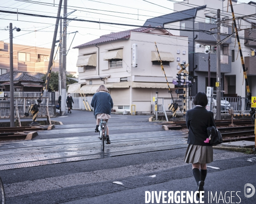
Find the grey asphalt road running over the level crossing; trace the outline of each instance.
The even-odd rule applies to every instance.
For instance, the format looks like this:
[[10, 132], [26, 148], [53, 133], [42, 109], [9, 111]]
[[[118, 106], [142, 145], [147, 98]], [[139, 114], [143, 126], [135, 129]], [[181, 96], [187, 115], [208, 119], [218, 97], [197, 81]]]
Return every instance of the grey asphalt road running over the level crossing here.
[[[161, 125], [148, 122], [148, 117], [112, 115], [109, 120], [111, 144], [107, 148], [111, 152], [111, 148], [122, 150], [131, 144], [141, 147], [174, 142], [170, 149], [151, 150], [143, 146], [143, 150], [134, 152], [101, 153], [98, 159], [81, 159], [79, 155], [73, 157], [78, 159], [67, 161], [50, 158], [48, 150], [58, 158], [66, 154], [76, 156], [77, 149], [99, 148], [93, 113], [76, 110], [67, 117], [54, 118], [64, 125], [39, 132], [32, 141], [1, 142], [0, 168], [6, 167], [6, 170], [1, 170], [0, 176], [6, 204], [142, 204], [145, 191], [156, 191], [157, 195], [167, 191], [167, 198], [161, 197], [159, 202], [165, 203], [170, 191], [195, 192], [191, 164], [183, 162], [186, 148], [175, 143], [184, 141], [184, 133], [164, 131]], [[38, 165], [36, 160], [46, 155], [51, 162]], [[28, 162], [27, 158], [35, 159]], [[18, 166], [4, 165], [4, 162], [18, 161], [21, 162]], [[256, 195], [246, 198], [244, 185], [250, 183], [256, 187], [255, 168], [256, 155], [214, 150], [214, 161], [209, 164], [205, 182], [204, 203], [231, 203], [231, 191], [232, 203], [254, 203]], [[211, 197], [208, 201], [208, 192], [216, 193], [214, 201]], [[158, 203], [155, 194], [154, 203]]]

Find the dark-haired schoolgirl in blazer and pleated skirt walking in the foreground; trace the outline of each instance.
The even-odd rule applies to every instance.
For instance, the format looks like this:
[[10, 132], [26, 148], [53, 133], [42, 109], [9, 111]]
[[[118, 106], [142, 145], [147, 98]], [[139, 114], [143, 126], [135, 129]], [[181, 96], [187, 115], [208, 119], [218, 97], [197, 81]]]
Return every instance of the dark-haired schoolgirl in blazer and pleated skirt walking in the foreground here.
[[[195, 108], [186, 112], [186, 125], [189, 129], [188, 147], [184, 162], [192, 163], [198, 191], [204, 191], [204, 180], [207, 175], [207, 166], [213, 161], [212, 145], [207, 143], [207, 127], [215, 126], [212, 111], [207, 111], [207, 96], [203, 92], [196, 94], [193, 103]], [[200, 194], [197, 194], [198, 198]]]

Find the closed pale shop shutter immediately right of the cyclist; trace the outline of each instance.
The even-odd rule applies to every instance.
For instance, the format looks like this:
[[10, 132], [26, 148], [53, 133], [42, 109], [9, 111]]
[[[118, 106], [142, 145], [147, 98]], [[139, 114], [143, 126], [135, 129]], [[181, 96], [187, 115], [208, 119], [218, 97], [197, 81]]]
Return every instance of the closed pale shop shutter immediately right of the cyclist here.
[[130, 88], [110, 88], [114, 105], [130, 105]]

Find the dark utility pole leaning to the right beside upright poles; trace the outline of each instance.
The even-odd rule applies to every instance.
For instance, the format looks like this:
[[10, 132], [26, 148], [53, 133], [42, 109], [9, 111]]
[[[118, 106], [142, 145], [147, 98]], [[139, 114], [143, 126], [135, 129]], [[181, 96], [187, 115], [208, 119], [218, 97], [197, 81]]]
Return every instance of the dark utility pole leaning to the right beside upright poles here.
[[[55, 29], [54, 29], [54, 34], [53, 34], [52, 48], [51, 48], [50, 59], [49, 59], [49, 64], [48, 64], [47, 76], [49, 74], [50, 68], [52, 66], [52, 61], [53, 61], [53, 54], [54, 54], [54, 50], [55, 50], [56, 38], [57, 38], [57, 33], [58, 33], [59, 17], [61, 15], [61, 5], [62, 5], [62, 0], [60, 0], [59, 6], [58, 6], [58, 14], [57, 14]], [[49, 81], [50, 80], [47, 81], [47, 87], [45, 89], [46, 94], [47, 94], [48, 88], [49, 88]]]

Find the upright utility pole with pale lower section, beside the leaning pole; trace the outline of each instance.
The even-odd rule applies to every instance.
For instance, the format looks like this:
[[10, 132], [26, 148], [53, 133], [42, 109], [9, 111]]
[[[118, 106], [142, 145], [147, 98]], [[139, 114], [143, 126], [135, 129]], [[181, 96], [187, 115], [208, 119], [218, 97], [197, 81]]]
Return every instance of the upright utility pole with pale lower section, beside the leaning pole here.
[[61, 116], [66, 115], [66, 68], [67, 68], [67, 0], [64, 0], [63, 11], [63, 46], [62, 46], [62, 78], [61, 78]]

